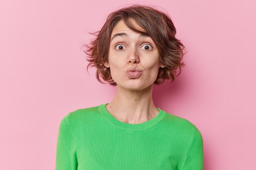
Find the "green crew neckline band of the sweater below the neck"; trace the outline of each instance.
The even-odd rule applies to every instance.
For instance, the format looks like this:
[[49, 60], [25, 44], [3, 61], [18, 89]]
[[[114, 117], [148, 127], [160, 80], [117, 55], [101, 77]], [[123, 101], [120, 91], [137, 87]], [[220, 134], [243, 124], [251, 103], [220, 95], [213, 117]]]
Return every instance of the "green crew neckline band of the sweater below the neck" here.
[[149, 129], [155, 126], [158, 122], [160, 122], [166, 116], [164, 111], [157, 107], [159, 112], [157, 116], [155, 116], [154, 118], [139, 124], [125, 123], [125, 122], [121, 122], [120, 120], [117, 120], [114, 116], [112, 116], [112, 114], [106, 109], [107, 104], [108, 103], [99, 105], [100, 113], [103, 115], [104, 118], [106, 118], [106, 120], [108, 120], [108, 122], [110, 122], [110, 124], [112, 124], [118, 129], [122, 129], [125, 131], [144, 131], [146, 129]]

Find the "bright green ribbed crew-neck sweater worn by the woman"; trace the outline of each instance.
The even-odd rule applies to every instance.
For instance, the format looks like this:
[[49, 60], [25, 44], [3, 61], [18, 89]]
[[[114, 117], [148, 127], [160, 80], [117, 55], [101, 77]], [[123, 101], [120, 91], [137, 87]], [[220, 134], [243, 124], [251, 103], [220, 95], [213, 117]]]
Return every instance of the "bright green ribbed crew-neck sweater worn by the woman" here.
[[194, 124], [159, 108], [155, 118], [128, 124], [107, 104], [61, 120], [56, 170], [203, 170], [202, 135]]

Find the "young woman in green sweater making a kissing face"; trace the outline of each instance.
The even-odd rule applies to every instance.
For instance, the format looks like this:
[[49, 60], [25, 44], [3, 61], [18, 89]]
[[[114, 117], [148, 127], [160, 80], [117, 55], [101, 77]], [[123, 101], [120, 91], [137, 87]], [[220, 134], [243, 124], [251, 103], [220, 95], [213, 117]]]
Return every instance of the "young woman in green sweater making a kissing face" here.
[[153, 84], [174, 81], [185, 65], [175, 34], [171, 18], [150, 6], [130, 5], [108, 16], [85, 53], [99, 82], [101, 76], [117, 86], [117, 94], [63, 118], [56, 170], [203, 170], [200, 131], [152, 100]]

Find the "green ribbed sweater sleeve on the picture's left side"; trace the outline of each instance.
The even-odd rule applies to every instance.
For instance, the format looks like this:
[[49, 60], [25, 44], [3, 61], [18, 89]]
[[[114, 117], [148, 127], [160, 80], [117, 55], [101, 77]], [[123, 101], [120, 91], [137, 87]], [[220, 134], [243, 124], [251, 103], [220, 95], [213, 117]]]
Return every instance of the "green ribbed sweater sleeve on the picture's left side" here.
[[59, 125], [56, 147], [56, 170], [77, 170], [77, 159], [73, 138], [70, 131], [70, 114], [67, 114]]

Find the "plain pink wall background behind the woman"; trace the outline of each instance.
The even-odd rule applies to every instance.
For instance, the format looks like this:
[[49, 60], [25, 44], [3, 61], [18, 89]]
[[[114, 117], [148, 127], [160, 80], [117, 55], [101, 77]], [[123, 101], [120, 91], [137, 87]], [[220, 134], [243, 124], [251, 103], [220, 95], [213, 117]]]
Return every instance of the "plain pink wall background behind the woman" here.
[[0, 2], [0, 169], [53, 170], [61, 119], [111, 102], [80, 48], [131, 3], [168, 11], [189, 51], [155, 105], [195, 124], [205, 170], [256, 167], [256, 3], [242, 0]]

